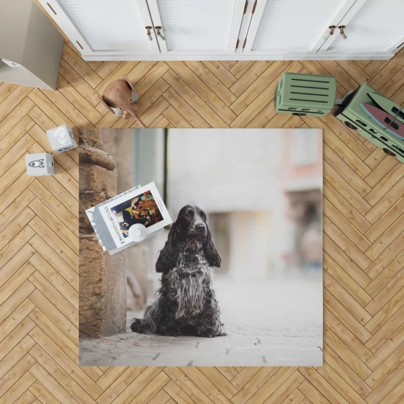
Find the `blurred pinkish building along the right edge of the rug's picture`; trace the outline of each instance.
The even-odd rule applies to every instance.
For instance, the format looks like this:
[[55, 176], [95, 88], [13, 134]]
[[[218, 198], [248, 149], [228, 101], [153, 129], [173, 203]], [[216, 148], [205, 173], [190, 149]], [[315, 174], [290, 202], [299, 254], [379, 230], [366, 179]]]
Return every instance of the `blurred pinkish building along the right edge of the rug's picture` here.
[[323, 140], [321, 130], [286, 129], [282, 192], [287, 200], [280, 237], [282, 267], [321, 270], [323, 263]]

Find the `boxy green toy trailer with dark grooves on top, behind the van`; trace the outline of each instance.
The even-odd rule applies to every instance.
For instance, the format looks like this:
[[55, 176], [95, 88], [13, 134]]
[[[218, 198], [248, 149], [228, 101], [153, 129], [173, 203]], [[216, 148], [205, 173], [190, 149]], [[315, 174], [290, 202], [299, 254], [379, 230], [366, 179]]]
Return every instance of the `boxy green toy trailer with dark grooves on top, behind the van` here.
[[334, 108], [337, 81], [333, 76], [283, 73], [275, 89], [276, 112], [323, 117]]

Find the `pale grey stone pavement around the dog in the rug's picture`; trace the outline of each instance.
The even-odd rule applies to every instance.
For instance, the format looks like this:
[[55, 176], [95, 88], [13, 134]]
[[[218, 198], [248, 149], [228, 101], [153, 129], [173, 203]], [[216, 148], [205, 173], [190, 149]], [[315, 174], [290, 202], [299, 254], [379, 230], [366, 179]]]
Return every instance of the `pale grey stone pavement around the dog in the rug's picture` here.
[[[231, 283], [215, 279], [226, 337], [166, 337], [127, 332], [80, 339], [81, 366], [321, 366], [322, 282]], [[254, 296], [254, 300], [251, 299]]]

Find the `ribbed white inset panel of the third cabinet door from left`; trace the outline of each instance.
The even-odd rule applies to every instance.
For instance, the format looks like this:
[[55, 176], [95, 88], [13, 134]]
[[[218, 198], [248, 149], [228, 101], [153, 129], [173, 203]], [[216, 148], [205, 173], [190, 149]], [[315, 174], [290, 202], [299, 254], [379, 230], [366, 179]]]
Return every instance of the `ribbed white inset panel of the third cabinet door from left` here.
[[340, 0], [267, 0], [252, 50], [310, 51], [343, 5]]

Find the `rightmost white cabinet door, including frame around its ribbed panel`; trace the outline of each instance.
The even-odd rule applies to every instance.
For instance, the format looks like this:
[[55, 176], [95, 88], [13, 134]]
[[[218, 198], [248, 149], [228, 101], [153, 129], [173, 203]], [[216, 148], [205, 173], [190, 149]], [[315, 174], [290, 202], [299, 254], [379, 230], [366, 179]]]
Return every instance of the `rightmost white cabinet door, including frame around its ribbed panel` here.
[[336, 32], [320, 54], [394, 53], [404, 45], [404, 0], [358, 0], [338, 25], [346, 39]]

